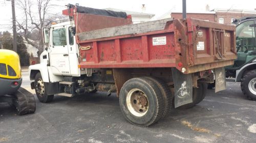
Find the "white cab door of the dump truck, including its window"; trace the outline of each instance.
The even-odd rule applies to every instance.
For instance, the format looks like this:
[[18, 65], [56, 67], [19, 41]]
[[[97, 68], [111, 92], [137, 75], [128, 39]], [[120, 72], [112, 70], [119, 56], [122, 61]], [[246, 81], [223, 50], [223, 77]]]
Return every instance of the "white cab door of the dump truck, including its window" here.
[[50, 43], [50, 67], [55, 75], [70, 75], [67, 27], [53, 27]]

